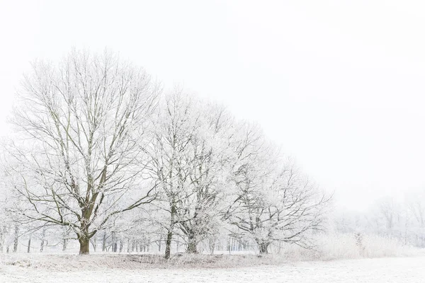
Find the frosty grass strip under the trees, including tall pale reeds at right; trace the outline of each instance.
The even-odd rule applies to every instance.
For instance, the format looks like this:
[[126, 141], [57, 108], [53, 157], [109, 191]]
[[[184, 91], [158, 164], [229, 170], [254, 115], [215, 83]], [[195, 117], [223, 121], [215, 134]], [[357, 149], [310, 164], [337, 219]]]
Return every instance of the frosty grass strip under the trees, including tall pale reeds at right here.
[[0, 253], [0, 270], [3, 266], [35, 268], [56, 272], [84, 270], [140, 270], [162, 268], [230, 268], [258, 265], [281, 265], [294, 261], [340, 260], [356, 258], [382, 258], [424, 255], [424, 251], [403, 245], [394, 238], [358, 236], [356, 234], [327, 234], [315, 239], [312, 249], [295, 245], [271, 247], [271, 254], [174, 254], [169, 260], [158, 254], [111, 254], [92, 255]]

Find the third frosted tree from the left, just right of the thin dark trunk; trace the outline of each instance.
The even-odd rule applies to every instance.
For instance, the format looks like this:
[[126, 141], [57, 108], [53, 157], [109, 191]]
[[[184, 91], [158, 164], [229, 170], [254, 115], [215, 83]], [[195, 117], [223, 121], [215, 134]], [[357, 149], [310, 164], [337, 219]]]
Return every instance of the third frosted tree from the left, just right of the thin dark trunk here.
[[227, 149], [233, 117], [219, 105], [202, 106], [198, 107], [203, 111], [200, 130], [185, 153], [191, 161], [190, 183], [179, 211], [188, 253], [197, 253], [198, 243], [217, 233], [230, 168]]

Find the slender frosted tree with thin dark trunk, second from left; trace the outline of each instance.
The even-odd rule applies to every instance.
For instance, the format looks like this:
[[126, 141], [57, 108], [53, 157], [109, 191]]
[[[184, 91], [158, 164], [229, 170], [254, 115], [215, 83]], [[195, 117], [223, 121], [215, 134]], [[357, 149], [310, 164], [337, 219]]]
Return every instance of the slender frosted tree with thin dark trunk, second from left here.
[[190, 101], [183, 101], [179, 93], [167, 96], [154, 123], [152, 143], [145, 148], [150, 156], [151, 178], [158, 181], [161, 189], [156, 205], [165, 215], [159, 219], [167, 219], [158, 222], [166, 229], [165, 258], [171, 253], [176, 224], [180, 221], [179, 208], [190, 182], [191, 165], [184, 152], [196, 134], [197, 119]]

